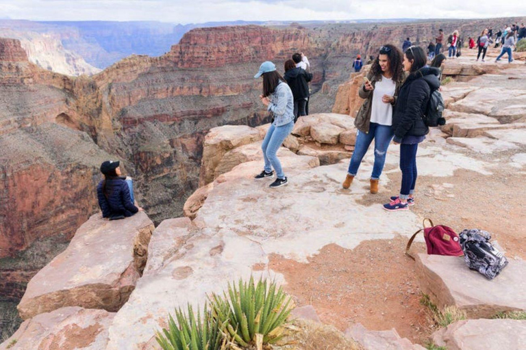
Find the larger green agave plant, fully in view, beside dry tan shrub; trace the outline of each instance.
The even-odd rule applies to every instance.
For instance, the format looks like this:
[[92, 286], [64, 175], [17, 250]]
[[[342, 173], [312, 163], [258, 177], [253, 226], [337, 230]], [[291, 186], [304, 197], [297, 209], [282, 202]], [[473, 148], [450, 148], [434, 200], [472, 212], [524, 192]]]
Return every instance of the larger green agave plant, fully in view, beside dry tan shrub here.
[[255, 285], [252, 277], [248, 283], [240, 280], [238, 287], [229, 284], [228, 295], [214, 294], [210, 301], [223, 334], [242, 347], [277, 342], [292, 311], [292, 299], [281, 287], [277, 288], [275, 282], [267, 285], [262, 279]]

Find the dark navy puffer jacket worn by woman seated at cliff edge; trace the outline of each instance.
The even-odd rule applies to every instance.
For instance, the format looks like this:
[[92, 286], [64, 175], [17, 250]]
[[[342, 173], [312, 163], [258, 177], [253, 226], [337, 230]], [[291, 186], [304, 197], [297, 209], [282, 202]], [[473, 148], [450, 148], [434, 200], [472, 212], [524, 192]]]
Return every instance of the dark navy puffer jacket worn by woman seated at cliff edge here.
[[104, 180], [97, 185], [97, 197], [99, 198], [102, 217], [118, 215], [130, 217], [139, 211], [139, 208], [132, 203], [132, 198], [129, 196], [129, 187], [125, 178], [108, 178], [106, 180], [108, 197], [104, 194], [103, 183]]

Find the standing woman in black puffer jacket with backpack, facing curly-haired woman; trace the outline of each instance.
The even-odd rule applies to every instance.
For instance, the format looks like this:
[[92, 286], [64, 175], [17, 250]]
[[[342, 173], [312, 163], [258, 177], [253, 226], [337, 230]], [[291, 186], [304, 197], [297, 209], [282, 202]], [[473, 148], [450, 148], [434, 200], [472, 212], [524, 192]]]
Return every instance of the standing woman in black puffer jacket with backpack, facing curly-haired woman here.
[[440, 70], [426, 66], [427, 57], [421, 47], [410, 46], [403, 56], [403, 70], [409, 72], [398, 94], [397, 104], [392, 114], [393, 142], [400, 145], [400, 170], [402, 185], [399, 196], [391, 197], [384, 204], [386, 211], [408, 210], [414, 204], [416, 184], [416, 151], [429, 133], [424, 122], [424, 113], [429, 96], [440, 87]]

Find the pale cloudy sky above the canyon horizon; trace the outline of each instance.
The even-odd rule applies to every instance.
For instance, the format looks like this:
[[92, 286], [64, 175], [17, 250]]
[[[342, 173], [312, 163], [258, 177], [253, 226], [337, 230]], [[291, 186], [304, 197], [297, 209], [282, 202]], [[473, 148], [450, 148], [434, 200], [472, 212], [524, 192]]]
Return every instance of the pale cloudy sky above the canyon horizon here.
[[[0, 0], [0, 18], [32, 21], [344, 21], [526, 16], [525, 0]], [[395, 5], [396, 4], [396, 5]]]

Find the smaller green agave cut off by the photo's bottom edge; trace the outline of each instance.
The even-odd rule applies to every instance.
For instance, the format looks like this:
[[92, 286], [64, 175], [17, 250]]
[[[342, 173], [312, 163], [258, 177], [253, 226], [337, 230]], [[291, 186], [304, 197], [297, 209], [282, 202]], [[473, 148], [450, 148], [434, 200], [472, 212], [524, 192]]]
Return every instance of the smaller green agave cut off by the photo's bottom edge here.
[[201, 313], [197, 310], [197, 319], [188, 304], [188, 315], [175, 310], [175, 318], [168, 317], [168, 329], [157, 332], [155, 339], [164, 350], [218, 350], [222, 347], [222, 335], [217, 319], [207, 310], [205, 305], [203, 322]]

